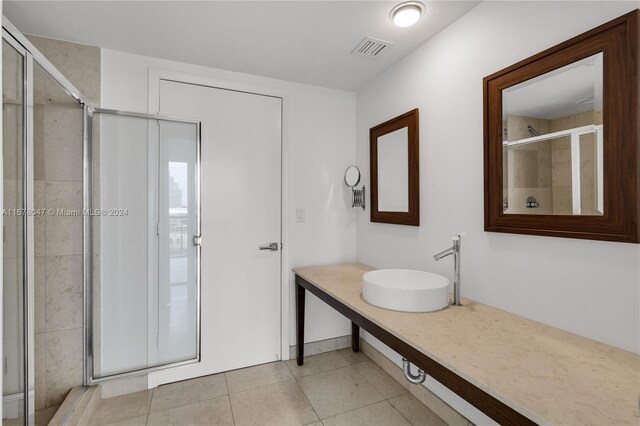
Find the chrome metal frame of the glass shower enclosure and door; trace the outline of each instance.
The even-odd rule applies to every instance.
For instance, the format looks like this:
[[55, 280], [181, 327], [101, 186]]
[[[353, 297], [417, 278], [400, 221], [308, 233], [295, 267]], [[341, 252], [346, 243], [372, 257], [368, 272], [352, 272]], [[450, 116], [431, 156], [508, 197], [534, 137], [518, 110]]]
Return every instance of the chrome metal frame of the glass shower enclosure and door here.
[[[196, 234], [201, 233], [200, 228], [200, 140], [201, 140], [201, 124], [198, 120], [186, 119], [182, 117], [161, 116], [147, 113], [128, 112], [120, 110], [110, 110], [96, 108], [91, 105], [89, 99], [71, 83], [45, 56], [42, 54], [25, 36], [18, 30], [4, 15], [2, 15], [2, 38], [11, 46], [16, 48], [19, 53], [23, 54], [24, 74], [24, 149], [25, 167], [23, 170], [23, 179], [25, 179], [25, 208], [27, 211], [33, 210], [34, 206], [34, 175], [33, 175], [33, 156], [34, 156], [34, 135], [33, 135], [33, 63], [37, 63], [45, 73], [53, 79], [68, 95], [70, 95], [83, 109], [82, 119], [82, 152], [83, 152], [83, 213], [91, 211], [93, 196], [93, 171], [92, 171], [92, 117], [94, 112], [108, 113], [115, 115], [132, 116], [138, 118], [146, 118], [150, 120], [164, 120], [172, 122], [190, 123], [197, 126], [196, 137]], [[24, 53], [22, 53], [24, 52]], [[100, 378], [93, 377], [93, 226], [92, 217], [83, 214], [83, 384], [88, 386], [110, 379], [133, 377], [146, 374], [152, 371], [164, 370], [172, 367], [179, 367], [188, 364], [198, 363], [201, 360], [201, 298], [200, 298], [200, 246], [196, 250], [196, 292], [197, 292], [197, 335], [196, 335], [196, 357], [178, 362], [167, 363], [163, 365], [148, 367], [144, 369], [132, 370], [119, 374], [108, 375]], [[25, 227], [23, 231], [24, 238], [24, 357], [25, 357], [25, 419], [27, 424], [33, 424], [35, 421], [35, 328], [34, 328], [34, 220], [33, 216], [25, 215]], [[28, 392], [27, 392], [28, 390]]]

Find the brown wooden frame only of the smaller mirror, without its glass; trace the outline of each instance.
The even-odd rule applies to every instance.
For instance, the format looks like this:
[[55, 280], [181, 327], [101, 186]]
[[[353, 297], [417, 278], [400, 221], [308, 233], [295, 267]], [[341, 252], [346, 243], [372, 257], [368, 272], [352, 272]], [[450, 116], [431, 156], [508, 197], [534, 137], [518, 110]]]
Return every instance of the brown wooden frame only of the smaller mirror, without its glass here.
[[[369, 166], [371, 170], [371, 222], [420, 226], [420, 149], [419, 111], [407, 113], [378, 124], [369, 130]], [[378, 138], [396, 130], [408, 128], [409, 211], [385, 212], [378, 210]]]

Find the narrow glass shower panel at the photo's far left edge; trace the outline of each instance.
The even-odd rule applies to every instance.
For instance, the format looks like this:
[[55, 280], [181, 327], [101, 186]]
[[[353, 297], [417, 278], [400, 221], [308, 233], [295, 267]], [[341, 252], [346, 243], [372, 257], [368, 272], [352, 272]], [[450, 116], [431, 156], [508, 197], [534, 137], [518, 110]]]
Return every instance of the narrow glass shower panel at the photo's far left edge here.
[[[33, 232], [32, 145], [27, 135], [27, 108], [32, 99], [26, 90], [31, 62], [22, 46], [5, 36], [3, 66], [3, 423], [32, 424], [34, 413], [33, 293], [28, 291], [28, 232]], [[30, 178], [31, 177], [31, 178]], [[27, 186], [29, 185], [29, 186]], [[31, 200], [30, 200], [31, 197]], [[32, 254], [32, 253], [31, 253]]]

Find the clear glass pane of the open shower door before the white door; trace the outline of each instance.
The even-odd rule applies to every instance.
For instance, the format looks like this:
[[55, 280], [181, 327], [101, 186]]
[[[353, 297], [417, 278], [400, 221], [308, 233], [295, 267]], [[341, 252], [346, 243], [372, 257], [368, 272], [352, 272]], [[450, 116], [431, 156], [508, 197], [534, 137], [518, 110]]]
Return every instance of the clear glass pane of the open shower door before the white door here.
[[199, 123], [93, 115], [92, 381], [199, 360]]

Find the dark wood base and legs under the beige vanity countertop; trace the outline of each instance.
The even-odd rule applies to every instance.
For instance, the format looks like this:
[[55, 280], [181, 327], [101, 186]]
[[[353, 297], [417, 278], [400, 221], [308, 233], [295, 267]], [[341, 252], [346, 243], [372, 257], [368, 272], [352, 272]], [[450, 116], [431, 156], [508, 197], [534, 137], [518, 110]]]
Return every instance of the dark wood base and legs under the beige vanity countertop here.
[[351, 321], [351, 349], [354, 352], [360, 351], [360, 328], [362, 328], [499, 424], [536, 424], [296, 274], [296, 348], [298, 351], [298, 365], [304, 364], [304, 312], [307, 290]]

